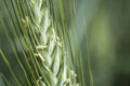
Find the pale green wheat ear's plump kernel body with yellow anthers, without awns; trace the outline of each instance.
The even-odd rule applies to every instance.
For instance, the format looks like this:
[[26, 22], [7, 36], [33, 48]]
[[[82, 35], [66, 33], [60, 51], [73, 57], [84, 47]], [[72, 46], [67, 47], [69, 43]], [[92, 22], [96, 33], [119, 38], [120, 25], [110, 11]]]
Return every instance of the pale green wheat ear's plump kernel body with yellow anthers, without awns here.
[[46, 68], [40, 72], [44, 80], [41, 82], [48, 86], [76, 85], [76, 74], [66, 64], [63, 41], [60, 40], [55, 32], [51, 15], [49, 14], [49, 6], [46, 6], [42, 0], [36, 0], [36, 2], [34, 0], [30, 6], [35, 15], [32, 17], [34, 23], [36, 23], [37, 29], [41, 32], [41, 40], [36, 46], [38, 51], [37, 56], [42, 61], [41, 67]]

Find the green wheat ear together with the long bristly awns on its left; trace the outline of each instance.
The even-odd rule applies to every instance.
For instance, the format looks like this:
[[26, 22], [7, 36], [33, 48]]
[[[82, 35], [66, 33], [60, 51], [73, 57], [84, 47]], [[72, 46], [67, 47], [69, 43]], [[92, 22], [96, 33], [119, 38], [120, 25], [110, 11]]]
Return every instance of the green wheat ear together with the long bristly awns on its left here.
[[[14, 85], [23, 86], [25, 80], [26, 86], [78, 86], [75, 69], [69, 60], [72, 57], [67, 55], [65, 40], [61, 32], [63, 28], [57, 29], [56, 25], [60, 24], [56, 24], [50, 14], [51, 0], [0, 1], [0, 6], [5, 8], [3, 13], [6, 15], [1, 13], [0, 29], [4, 31], [14, 58], [23, 72], [21, 78], [12, 69], [3, 48], [0, 47], [0, 55], [16, 83]], [[10, 6], [13, 6], [14, 13], [10, 11]], [[17, 46], [12, 42], [11, 33], [14, 34]], [[17, 48], [21, 48], [23, 57], [18, 56]], [[12, 85], [8, 77], [4, 75], [2, 77], [6, 85]]]

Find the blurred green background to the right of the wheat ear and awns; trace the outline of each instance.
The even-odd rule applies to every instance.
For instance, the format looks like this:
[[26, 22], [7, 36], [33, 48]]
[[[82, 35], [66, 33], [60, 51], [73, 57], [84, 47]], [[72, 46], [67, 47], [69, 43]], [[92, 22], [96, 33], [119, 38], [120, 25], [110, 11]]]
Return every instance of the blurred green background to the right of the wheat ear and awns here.
[[76, 43], [77, 49], [81, 48], [86, 86], [91, 85], [87, 52], [94, 86], [130, 86], [130, 0], [75, 2], [77, 12], [69, 37], [72, 45]]

